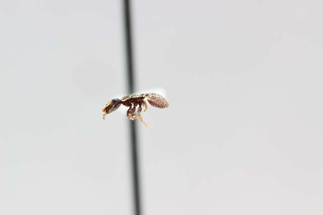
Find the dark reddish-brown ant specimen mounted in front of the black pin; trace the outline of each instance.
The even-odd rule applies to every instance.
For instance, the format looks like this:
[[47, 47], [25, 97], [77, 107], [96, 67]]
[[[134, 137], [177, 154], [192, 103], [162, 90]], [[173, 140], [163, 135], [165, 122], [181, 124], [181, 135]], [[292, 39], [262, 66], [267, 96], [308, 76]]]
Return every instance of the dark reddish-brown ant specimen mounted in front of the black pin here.
[[[143, 112], [145, 112], [148, 108], [148, 104], [144, 99], [147, 99], [150, 105], [157, 108], [168, 108], [170, 106], [168, 101], [163, 96], [160, 96], [156, 93], [131, 94], [126, 95], [121, 99], [116, 98], [108, 102], [102, 109], [103, 119], [105, 118], [106, 114], [109, 114], [117, 110], [121, 105], [124, 105], [126, 107], [129, 107], [126, 115], [128, 119], [139, 119], [142, 123], [145, 124], [146, 127], [148, 127], [148, 125], [143, 121], [140, 115], [140, 112], [142, 110], [141, 106], [145, 106]], [[137, 115], [133, 116], [132, 114], [136, 111], [137, 105], [139, 106], [137, 110]]]

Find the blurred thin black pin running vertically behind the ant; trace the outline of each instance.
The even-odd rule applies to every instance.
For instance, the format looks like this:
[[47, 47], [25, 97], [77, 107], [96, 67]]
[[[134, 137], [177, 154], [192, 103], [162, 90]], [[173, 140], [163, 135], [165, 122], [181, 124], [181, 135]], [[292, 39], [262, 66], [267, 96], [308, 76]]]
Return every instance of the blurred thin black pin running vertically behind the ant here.
[[[132, 58], [132, 38], [131, 38], [131, 14], [130, 1], [124, 0], [124, 21], [125, 21], [125, 39], [126, 39], [126, 60], [128, 73], [128, 92], [134, 93], [134, 73]], [[135, 121], [130, 120], [130, 138], [131, 138], [131, 166], [134, 194], [135, 215], [141, 214], [140, 209], [140, 186], [139, 186], [139, 167], [138, 167], [138, 150], [137, 150], [137, 132]]]

